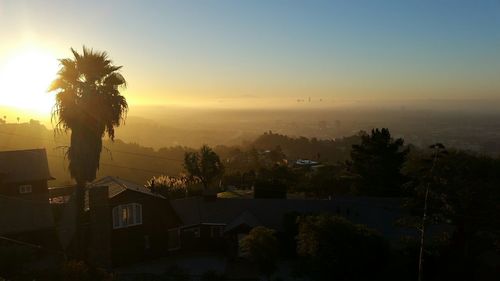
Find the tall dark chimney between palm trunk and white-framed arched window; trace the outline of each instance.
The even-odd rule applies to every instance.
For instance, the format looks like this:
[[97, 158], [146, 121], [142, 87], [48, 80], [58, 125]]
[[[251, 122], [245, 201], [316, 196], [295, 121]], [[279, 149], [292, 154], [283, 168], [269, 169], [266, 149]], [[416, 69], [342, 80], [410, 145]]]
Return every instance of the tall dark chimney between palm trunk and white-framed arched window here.
[[111, 211], [108, 187], [89, 189], [88, 262], [97, 267], [111, 266]]

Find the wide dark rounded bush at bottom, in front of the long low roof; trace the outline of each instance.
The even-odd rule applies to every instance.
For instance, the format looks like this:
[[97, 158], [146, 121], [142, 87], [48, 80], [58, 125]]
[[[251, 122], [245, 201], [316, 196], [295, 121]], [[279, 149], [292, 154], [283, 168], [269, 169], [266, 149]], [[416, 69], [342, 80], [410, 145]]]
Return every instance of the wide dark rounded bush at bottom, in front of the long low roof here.
[[322, 214], [299, 218], [301, 273], [312, 280], [382, 280], [388, 242], [377, 232]]

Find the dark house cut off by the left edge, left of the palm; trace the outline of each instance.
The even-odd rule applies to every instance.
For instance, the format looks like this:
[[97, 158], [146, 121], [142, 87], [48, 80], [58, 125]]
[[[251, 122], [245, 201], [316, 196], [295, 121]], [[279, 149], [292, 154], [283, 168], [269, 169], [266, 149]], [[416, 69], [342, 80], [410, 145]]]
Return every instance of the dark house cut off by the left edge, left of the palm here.
[[0, 151], [0, 235], [57, 247], [45, 149]]

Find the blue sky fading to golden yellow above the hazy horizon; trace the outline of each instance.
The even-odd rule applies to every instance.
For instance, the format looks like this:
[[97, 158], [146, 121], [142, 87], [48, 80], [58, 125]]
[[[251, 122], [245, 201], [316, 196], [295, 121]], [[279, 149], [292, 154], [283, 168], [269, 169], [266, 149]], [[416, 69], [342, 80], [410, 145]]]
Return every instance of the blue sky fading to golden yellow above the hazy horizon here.
[[131, 104], [500, 99], [499, 0], [0, 0], [0, 42], [105, 50]]

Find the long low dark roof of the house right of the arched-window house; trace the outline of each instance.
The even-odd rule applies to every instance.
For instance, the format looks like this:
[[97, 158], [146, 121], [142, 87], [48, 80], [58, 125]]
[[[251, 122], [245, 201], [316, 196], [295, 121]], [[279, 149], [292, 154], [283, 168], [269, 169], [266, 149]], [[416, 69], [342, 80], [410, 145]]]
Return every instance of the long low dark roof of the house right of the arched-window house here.
[[184, 225], [224, 223], [226, 231], [240, 224], [263, 225], [284, 229], [284, 216], [291, 212], [340, 214], [355, 223], [377, 229], [387, 237], [410, 234], [396, 227], [402, 216], [402, 200], [398, 198], [338, 197], [332, 200], [308, 199], [223, 199], [205, 201], [199, 197], [172, 200], [174, 210]]

